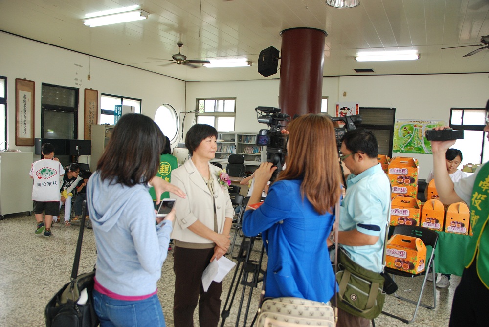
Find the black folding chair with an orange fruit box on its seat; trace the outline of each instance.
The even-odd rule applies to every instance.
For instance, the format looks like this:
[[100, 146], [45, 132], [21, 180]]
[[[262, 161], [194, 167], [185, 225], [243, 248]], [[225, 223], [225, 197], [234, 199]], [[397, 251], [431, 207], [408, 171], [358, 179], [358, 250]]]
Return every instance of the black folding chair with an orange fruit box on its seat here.
[[438, 241], [438, 233], [433, 231], [433, 230], [430, 230], [428, 228], [424, 228], [424, 227], [420, 227], [420, 226], [398, 225], [398, 226], [394, 227], [393, 235], [394, 234], [407, 235], [407, 236], [420, 238], [423, 241], [425, 246], [432, 247], [431, 255], [429, 257], [429, 260], [427, 261], [427, 264], [425, 265], [426, 268], [424, 269], [424, 271], [422, 271], [418, 274], [410, 274], [410, 273], [403, 272], [403, 271], [400, 271], [397, 269], [385, 267], [385, 272], [391, 274], [392, 279], [394, 279], [394, 276], [411, 277], [411, 278], [423, 276], [423, 283], [421, 285], [421, 290], [420, 290], [420, 294], [418, 297], [418, 301], [413, 301], [411, 299], [406, 299], [404, 297], [401, 297], [397, 294], [397, 292], [393, 293], [393, 295], [396, 298], [416, 305], [416, 308], [415, 308], [414, 314], [413, 314], [413, 318], [411, 320], [407, 320], [407, 319], [401, 318], [399, 316], [396, 316], [392, 313], [382, 311], [382, 313], [385, 314], [386, 316], [398, 319], [398, 320], [400, 320], [406, 324], [409, 324], [409, 323], [414, 321], [414, 318], [416, 317], [416, 313], [418, 312], [418, 308], [420, 306], [425, 307], [427, 309], [434, 309], [436, 307], [436, 284], [434, 282], [433, 282], [433, 305], [422, 304], [421, 303], [421, 297], [423, 295], [424, 286], [426, 284], [426, 279], [428, 277], [428, 272], [430, 271], [430, 268], [431, 268], [431, 274], [433, 276], [433, 281], [436, 281], [436, 275], [435, 275], [436, 270], [435, 270], [434, 258], [435, 258], [435, 247], [436, 247], [436, 244]]

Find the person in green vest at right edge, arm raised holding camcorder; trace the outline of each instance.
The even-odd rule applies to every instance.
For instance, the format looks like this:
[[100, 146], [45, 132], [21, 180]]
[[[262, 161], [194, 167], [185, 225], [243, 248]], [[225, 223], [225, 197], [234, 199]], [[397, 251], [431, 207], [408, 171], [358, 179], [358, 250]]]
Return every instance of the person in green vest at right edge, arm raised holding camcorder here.
[[[486, 104], [484, 131], [489, 141], [489, 100]], [[443, 130], [445, 127], [435, 128]], [[445, 152], [455, 144], [432, 141], [433, 171], [438, 195], [443, 203], [464, 201], [470, 206], [470, 226], [473, 237], [468, 243], [463, 263], [462, 279], [453, 295], [449, 327], [488, 326], [489, 299], [489, 162], [474, 174], [453, 183], [445, 165]], [[462, 260], [462, 258], [461, 258]]]

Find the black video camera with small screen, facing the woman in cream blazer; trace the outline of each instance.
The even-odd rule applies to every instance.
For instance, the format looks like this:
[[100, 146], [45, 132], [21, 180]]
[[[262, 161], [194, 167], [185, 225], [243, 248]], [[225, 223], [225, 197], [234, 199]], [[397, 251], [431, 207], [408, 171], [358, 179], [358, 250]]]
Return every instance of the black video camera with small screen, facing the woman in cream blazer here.
[[277, 166], [277, 170], [270, 178], [270, 181], [274, 181], [277, 174], [282, 171], [287, 155], [288, 136], [280, 132], [283, 127], [281, 122], [290, 121], [290, 116], [280, 113], [280, 109], [275, 107], [256, 107], [255, 111], [258, 122], [270, 127], [268, 130], [260, 130], [260, 133], [256, 135], [255, 143], [267, 147], [267, 162]]

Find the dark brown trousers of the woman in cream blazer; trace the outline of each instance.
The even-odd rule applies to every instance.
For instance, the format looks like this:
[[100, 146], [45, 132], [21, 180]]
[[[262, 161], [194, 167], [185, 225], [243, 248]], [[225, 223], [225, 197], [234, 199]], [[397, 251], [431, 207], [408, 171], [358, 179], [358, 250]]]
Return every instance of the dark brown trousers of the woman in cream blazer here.
[[175, 247], [173, 253], [175, 327], [194, 326], [194, 310], [197, 303], [199, 303], [200, 327], [216, 327], [219, 323], [222, 283], [212, 282], [207, 292], [204, 292], [202, 288], [202, 272], [210, 263], [213, 255], [214, 248]]

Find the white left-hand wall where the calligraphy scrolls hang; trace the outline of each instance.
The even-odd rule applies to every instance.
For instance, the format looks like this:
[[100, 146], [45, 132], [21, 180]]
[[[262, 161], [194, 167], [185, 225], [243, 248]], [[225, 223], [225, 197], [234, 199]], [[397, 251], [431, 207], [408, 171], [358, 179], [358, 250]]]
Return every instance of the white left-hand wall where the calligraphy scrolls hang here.
[[[0, 44], [0, 75], [7, 77], [7, 128], [10, 148], [34, 152], [34, 147], [15, 145], [16, 78], [35, 82], [35, 137], [41, 137], [42, 83], [79, 88], [78, 137], [81, 139], [85, 88], [99, 92], [99, 104], [102, 93], [141, 99], [142, 113], [151, 118], [155, 117], [156, 109], [164, 103], [172, 105], [177, 113], [185, 108], [183, 81], [3, 32], [0, 32]], [[87, 80], [89, 73], [91, 79]], [[37, 160], [39, 157], [35, 158]], [[81, 162], [84, 161], [84, 158], [81, 159]]]

